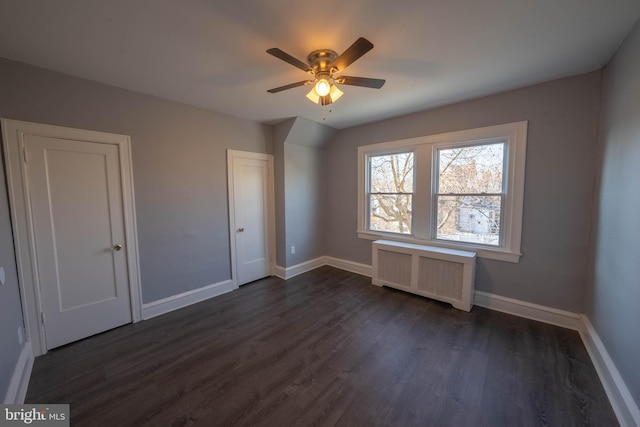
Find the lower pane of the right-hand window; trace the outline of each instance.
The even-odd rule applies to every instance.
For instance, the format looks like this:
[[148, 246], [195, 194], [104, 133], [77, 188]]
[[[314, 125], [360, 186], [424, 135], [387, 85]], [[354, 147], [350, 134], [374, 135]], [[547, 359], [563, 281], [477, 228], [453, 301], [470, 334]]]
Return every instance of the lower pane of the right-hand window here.
[[438, 239], [500, 245], [502, 196], [438, 196]]

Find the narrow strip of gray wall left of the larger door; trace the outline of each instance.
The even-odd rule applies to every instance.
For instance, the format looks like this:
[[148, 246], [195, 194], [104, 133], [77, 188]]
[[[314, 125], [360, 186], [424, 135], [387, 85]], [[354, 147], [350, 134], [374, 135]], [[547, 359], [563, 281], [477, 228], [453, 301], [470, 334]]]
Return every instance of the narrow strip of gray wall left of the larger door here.
[[0, 286], [0, 400], [3, 400], [20, 355], [18, 328], [24, 327], [24, 324], [2, 161], [0, 161], [0, 266], [4, 267], [6, 277], [5, 285]]

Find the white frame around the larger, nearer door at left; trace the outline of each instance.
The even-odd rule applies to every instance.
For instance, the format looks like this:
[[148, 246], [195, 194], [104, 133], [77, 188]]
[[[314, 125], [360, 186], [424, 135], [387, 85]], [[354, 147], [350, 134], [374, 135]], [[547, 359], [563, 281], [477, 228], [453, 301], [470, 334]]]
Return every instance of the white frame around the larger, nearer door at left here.
[[11, 228], [16, 254], [20, 298], [27, 341], [31, 342], [33, 356], [47, 352], [45, 331], [42, 324], [42, 304], [38, 282], [37, 253], [33, 233], [29, 186], [25, 170], [28, 161], [24, 149], [24, 137], [37, 135], [50, 138], [74, 139], [118, 147], [120, 160], [120, 182], [122, 186], [122, 208], [124, 217], [125, 245], [127, 248], [127, 278], [131, 298], [133, 322], [142, 319], [142, 292], [140, 287], [140, 261], [138, 255], [138, 233], [133, 192], [133, 165], [131, 162], [131, 139], [127, 135], [74, 129], [20, 120], [0, 119], [5, 160], [5, 174], [11, 211]]

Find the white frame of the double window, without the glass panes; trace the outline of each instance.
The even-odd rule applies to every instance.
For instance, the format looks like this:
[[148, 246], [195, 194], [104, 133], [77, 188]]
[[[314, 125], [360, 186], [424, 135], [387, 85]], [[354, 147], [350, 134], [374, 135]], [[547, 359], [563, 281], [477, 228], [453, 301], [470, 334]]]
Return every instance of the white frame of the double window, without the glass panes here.
[[[517, 263], [521, 254], [522, 212], [527, 145], [526, 121], [487, 126], [458, 132], [429, 135], [358, 147], [358, 237], [368, 240], [387, 239], [406, 243], [427, 244], [476, 252], [479, 257]], [[448, 241], [436, 238], [433, 206], [436, 150], [470, 144], [505, 142], [504, 207], [501, 211], [500, 246]], [[400, 234], [368, 229], [369, 156], [414, 152], [414, 195], [412, 233]]]

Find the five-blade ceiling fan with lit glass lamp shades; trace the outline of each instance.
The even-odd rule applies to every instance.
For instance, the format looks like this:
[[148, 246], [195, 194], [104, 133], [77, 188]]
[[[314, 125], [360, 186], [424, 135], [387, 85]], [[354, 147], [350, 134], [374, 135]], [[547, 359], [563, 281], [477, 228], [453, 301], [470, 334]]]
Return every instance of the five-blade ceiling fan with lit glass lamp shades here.
[[338, 55], [330, 49], [314, 50], [307, 56], [307, 62], [303, 62], [277, 47], [267, 50], [268, 54], [282, 59], [285, 62], [300, 68], [302, 71], [313, 76], [312, 79], [302, 80], [296, 83], [269, 89], [269, 93], [282, 92], [298, 86], [314, 83], [313, 89], [307, 94], [312, 102], [316, 104], [328, 105], [340, 98], [343, 92], [338, 88], [340, 85], [362, 86], [373, 89], [380, 89], [385, 81], [382, 79], [370, 79], [368, 77], [344, 76], [341, 73], [349, 65], [365, 53], [373, 49], [373, 43], [360, 37], [342, 55]]

